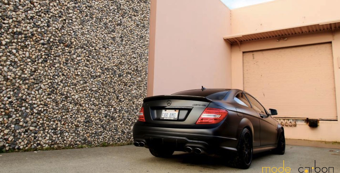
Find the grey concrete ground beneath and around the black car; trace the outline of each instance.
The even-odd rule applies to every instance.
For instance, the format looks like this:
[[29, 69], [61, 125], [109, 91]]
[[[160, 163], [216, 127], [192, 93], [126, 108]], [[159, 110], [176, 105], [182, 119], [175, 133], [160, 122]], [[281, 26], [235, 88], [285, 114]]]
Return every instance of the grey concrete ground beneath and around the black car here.
[[268, 152], [256, 155], [247, 170], [228, 167], [224, 164], [225, 160], [216, 156], [175, 152], [171, 158], [157, 158], [152, 156], [148, 149], [135, 146], [37, 151], [36, 153], [16, 152], [0, 154], [0, 173], [261, 173], [262, 167], [282, 167], [283, 160], [285, 160], [285, 167], [292, 169], [291, 173], [298, 173], [299, 167], [314, 167], [314, 160], [316, 160], [316, 167], [334, 167], [334, 172], [337, 173], [340, 172], [340, 151], [338, 151], [339, 149], [287, 145], [284, 155]]

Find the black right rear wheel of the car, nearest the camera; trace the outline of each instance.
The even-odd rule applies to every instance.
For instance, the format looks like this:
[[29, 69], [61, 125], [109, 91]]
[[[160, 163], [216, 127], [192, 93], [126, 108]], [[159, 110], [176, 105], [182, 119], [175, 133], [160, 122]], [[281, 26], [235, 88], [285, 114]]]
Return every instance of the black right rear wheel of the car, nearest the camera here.
[[231, 160], [231, 166], [248, 169], [253, 159], [253, 137], [248, 129], [243, 129], [238, 141], [237, 152]]

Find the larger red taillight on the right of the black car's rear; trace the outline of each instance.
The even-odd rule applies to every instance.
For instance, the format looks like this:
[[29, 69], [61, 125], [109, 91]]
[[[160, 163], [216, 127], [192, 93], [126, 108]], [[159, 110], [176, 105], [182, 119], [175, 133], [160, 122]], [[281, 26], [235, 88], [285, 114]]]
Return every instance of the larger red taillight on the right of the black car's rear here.
[[218, 108], [205, 108], [196, 124], [216, 124], [228, 115], [228, 111]]

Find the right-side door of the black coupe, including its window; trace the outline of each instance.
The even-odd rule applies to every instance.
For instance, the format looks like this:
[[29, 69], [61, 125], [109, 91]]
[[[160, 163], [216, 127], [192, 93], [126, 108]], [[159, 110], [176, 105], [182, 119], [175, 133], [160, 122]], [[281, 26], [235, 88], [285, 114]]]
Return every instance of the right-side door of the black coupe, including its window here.
[[253, 96], [245, 93], [252, 108], [257, 112], [260, 120], [260, 142], [261, 146], [272, 145], [276, 142], [277, 127], [266, 109]]

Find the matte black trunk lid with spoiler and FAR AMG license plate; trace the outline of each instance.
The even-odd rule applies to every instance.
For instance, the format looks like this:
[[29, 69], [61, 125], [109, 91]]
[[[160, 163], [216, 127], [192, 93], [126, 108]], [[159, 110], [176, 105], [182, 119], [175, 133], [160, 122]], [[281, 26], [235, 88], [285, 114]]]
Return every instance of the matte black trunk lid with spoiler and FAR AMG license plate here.
[[212, 101], [202, 96], [158, 95], [143, 102], [147, 123], [192, 125]]

